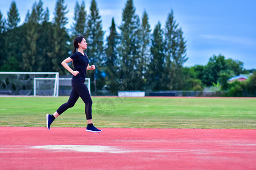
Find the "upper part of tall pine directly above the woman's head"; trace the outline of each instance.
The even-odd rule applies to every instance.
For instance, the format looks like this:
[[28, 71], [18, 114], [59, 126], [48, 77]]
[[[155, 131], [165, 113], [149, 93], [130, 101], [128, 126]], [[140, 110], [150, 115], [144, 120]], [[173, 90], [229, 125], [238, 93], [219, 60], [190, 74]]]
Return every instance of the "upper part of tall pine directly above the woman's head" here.
[[85, 35], [85, 25], [86, 25], [86, 10], [85, 3], [82, 1], [81, 6], [76, 1], [75, 10], [74, 10], [74, 21], [73, 26], [71, 26], [72, 37]]

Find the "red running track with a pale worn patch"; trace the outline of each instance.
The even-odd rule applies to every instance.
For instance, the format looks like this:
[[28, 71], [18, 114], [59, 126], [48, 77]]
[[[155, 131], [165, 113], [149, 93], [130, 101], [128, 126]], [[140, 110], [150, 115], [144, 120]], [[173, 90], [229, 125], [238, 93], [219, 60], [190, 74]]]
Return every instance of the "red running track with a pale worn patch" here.
[[0, 169], [255, 169], [256, 129], [0, 127]]

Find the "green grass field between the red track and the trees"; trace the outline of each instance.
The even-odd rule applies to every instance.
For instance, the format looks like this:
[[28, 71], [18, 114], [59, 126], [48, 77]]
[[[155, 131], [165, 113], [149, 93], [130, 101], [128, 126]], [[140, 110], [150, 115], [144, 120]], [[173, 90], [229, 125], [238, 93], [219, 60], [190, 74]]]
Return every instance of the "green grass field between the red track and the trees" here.
[[[46, 114], [67, 100], [67, 96], [0, 97], [0, 126], [46, 126]], [[99, 128], [256, 129], [255, 98], [93, 96], [92, 100], [93, 122]], [[52, 124], [60, 126], [86, 126], [81, 99]]]

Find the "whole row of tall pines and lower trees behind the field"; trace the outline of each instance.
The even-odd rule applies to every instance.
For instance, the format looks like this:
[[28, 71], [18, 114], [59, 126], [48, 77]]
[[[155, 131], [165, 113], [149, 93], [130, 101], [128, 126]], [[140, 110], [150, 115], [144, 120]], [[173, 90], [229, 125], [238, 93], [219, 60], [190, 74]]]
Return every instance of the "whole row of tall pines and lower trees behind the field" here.
[[[39, 0], [27, 11], [24, 23], [19, 24], [15, 1], [11, 2], [7, 19], [0, 11], [0, 71], [69, 74], [60, 63], [71, 56], [73, 39], [83, 35], [89, 43], [89, 63], [96, 65], [96, 70], [87, 73], [94, 95], [102, 90], [115, 95], [127, 90], [202, 91], [218, 83], [227, 91], [232, 86], [226, 80], [232, 76], [254, 71], [255, 77], [255, 70], [243, 69], [241, 61], [225, 59], [221, 54], [210, 57], [205, 66], [184, 67], [188, 59], [186, 40], [172, 10], [163, 26], [158, 22], [151, 29], [146, 10], [140, 18], [133, 0], [127, 0], [122, 22], [117, 26], [112, 19], [106, 39], [96, 0], [90, 2], [89, 11], [85, 10], [84, 1], [76, 2], [71, 29], [65, 27], [67, 12], [64, 0], [57, 0], [50, 21], [48, 8], [44, 9]], [[256, 95], [255, 85], [250, 88], [254, 91], [247, 90], [246, 95]]]

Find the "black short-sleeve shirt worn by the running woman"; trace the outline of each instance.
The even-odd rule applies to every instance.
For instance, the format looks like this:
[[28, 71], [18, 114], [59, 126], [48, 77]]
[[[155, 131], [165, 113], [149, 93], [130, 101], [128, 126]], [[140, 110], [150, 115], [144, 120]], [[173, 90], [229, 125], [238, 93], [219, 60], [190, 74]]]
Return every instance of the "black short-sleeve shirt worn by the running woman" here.
[[84, 53], [84, 56], [80, 52], [75, 52], [70, 56], [73, 59], [73, 66], [76, 71], [79, 71], [79, 74], [72, 77], [72, 82], [85, 82], [86, 77], [86, 68], [89, 63], [89, 58]]

